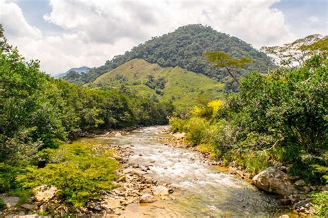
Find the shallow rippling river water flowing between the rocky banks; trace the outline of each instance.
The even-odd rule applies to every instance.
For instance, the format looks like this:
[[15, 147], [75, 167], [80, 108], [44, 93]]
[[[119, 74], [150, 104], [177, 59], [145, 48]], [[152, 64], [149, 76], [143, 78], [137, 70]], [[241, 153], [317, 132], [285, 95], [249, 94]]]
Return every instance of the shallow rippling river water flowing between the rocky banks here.
[[209, 165], [197, 152], [165, 145], [163, 138], [172, 136], [161, 129], [145, 127], [107, 138], [133, 149], [129, 162], [150, 165], [149, 176], [182, 187], [173, 199], [131, 204], [122, 217], [279, 217], [287, 212], [277, 197]]

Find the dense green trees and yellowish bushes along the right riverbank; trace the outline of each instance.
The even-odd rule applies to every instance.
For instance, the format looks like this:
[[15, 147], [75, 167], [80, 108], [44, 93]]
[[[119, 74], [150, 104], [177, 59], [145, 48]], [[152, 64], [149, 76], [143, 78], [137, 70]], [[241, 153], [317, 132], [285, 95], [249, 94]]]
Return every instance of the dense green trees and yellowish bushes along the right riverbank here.
[[257, 173], [284, 162], [291, 164], [289, 174], [323, 183], [327, 177], [326, 60], [320, 51], [300, 68], [251, 73], [242, 78], [240, 92], [226, 96], [215, 113], [209, 113], [208, 105], [195, 107], [188, 120], [170, 123], [174, 131], [186, 131], [190, 143], [215, 147], [217, 157], [226, 163], [235, 161]]

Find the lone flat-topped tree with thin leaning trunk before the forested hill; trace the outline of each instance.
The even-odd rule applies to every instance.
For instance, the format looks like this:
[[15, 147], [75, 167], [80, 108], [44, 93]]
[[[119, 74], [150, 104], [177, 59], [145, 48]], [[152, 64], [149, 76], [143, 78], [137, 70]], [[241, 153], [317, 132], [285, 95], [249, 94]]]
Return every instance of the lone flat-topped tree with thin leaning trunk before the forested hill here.
[[237, 77], [232, 73], [232, 69], [243, 68], [246, 64], [252, 62], [249, 57], [233, 58], [227, 53], [221, 51], [212, 51], [204, 54], [209, 62], [215, 64], [215, 67], [223, 67], [229, 75], [239, 84]]

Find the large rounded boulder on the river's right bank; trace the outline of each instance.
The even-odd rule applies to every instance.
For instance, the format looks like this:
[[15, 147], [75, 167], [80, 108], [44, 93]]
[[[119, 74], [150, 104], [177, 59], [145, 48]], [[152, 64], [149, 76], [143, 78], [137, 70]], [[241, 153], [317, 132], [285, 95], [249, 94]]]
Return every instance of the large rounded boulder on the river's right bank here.
[[295, 192], [288, 175], [275, 167], [268, 167], [253, 177], [254, 185], [266, 192], [288, 195]]

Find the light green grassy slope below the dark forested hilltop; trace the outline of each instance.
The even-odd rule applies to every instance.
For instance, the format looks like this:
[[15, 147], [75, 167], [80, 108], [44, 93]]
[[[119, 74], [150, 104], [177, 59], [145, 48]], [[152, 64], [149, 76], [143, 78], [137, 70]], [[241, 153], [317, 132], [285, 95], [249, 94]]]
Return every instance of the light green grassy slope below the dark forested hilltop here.
[[[154, 75], [155, 78], [163, 77], [167, 81], [165, 89], [162, 90], [163, 96], [156, 95], [153, 89], [143, 84], [147, 81], [149, 74]], [[110, 80], [115, 80], [118, 75], [124, 76], [127, 79], [127, 85], [139, 95], [156, 96], [160, 100], [172, 102], [178, 110], [218, 98], [224, 88], [224, 84], [212, 80], [206, 75], [187, 71], [179, 66], [174, 68], [161, 67], [142, 59], [131, 60], [101, 75], [93, 82], [93, 85], [106, 86]]]

